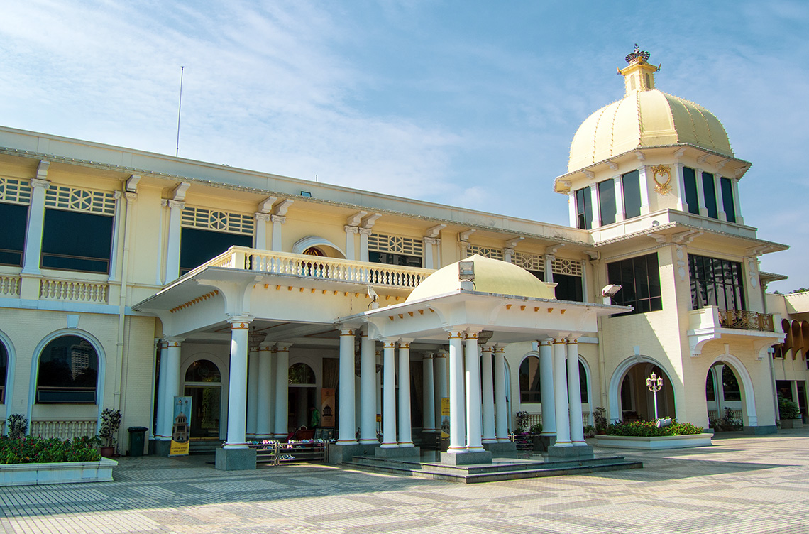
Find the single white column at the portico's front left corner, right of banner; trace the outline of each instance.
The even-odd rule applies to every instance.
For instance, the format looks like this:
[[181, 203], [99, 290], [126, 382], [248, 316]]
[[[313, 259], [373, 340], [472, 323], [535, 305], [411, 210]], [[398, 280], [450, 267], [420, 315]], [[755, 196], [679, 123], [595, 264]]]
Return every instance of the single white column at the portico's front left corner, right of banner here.
[[231, 367], [227, 392], [227, 440], [222, 448], [247, 447], [245, 416], [248, 401], [248, 333], [250, 320], [237, 317], [231, 323]]

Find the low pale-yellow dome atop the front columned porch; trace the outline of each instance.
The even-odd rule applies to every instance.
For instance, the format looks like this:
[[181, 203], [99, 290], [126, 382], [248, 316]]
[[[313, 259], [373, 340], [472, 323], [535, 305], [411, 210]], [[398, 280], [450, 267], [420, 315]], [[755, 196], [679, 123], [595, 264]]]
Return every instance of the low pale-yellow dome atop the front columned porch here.
[[[492, 260], [475, 254], [466, 259], [475, 264], [475, 290], [498, 295], [555, 299], [553, 289], [527, 270], [507, 263]], [[408, 296], [405, 302], [430, 299], [460, 289], [458, 263], [438, 269], [425, 278]]]

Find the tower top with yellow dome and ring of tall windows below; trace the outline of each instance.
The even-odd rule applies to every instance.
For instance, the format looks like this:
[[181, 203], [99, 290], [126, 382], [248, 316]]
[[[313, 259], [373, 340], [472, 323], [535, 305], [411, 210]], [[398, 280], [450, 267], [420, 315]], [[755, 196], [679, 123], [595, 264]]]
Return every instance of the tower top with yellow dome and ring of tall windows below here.
[[570, 143], [568, 172], [554, 184], [570, 195], [570, 225], [590, 230], [653, 214], [661, 224], [667, 210], [742, 224], [737, 184], [750, 163], [735, 157], [713, 113], [655, 88], [660, 67], [649, 57], [635, 45], [618, 70], [624, 97], [587, 117]]

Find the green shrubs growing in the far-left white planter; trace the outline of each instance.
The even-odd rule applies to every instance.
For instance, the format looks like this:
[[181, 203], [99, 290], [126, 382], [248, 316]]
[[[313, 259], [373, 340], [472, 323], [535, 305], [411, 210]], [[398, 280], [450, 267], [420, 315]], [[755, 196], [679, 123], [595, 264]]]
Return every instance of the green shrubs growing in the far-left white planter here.
[[85, 439], [0, 437], [0, 464], [44, 464], [50, 462], [95, 462], [101, 455]]

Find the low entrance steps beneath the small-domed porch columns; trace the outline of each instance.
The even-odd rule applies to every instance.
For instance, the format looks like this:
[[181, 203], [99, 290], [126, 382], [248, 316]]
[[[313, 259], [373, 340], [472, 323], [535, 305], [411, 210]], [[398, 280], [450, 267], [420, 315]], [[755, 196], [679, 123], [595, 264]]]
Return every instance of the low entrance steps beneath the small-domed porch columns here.
[[411, 477], [430, 478], [461, 484], [509, 481], [521, 478], [558, 477], [600, 471], [642, 468], [640, 461], [625, 460], [624, 456], [599, 456], [588, 459], [548, 460], [535, 456], [532, 459], [495, 458], [491, 464], [447, 465], [438, 461], [416, 458], [376, 458], [354, 456], [343, 467], [390, 473]]

